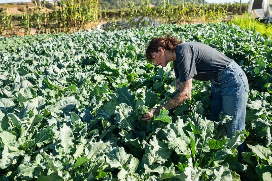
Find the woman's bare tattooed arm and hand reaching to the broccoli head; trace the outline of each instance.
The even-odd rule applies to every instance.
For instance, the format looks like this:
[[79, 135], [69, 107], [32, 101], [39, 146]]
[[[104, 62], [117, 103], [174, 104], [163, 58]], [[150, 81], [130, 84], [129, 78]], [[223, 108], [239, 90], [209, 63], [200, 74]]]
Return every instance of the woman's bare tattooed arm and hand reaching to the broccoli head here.
[[176, 90], [179, 90], [180, 92], [178, 92], [168, 103], [165, 103], [158, 108], [151, 109], [150, 112], [144, 115], [144, 118], [142, 118], [141, 120], [148, 121], [153, 117], [153, 115], [159, 115], [160, 109], [162, 109], [162, 107], [164, 107], [166, 110], [173, 109], [179, 106], [184, 101], [190, 99], [192, 91], [192, 82], [193, 78], [185, 82], [180, 82], [179, 79], [177, 79]]

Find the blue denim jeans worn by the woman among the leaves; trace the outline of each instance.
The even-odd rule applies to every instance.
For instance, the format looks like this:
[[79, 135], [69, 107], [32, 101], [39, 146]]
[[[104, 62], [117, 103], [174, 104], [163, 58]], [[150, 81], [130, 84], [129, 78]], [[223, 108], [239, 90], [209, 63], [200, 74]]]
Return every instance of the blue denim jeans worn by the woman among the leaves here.
[[[248, 100], [248, 79], [243, 69], [232, 61], [224, 70], [211, 80], [210, 120], [218, 121], [219, 113], [233, 116], [224, 124], [227, 137], [231, 138], [236, 130], [245, 129], [246, 103]], [[244, 145], [237, 150], [242, 153]]]

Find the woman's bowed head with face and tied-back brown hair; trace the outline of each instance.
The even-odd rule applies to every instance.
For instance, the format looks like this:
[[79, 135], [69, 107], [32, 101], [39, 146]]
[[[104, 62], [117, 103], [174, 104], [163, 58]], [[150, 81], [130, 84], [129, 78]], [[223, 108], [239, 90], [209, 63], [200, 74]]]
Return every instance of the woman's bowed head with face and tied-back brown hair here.
[[182, 43], [176, 37], [153, 38], [146, 49], [146, 59], [157, 65], [166, 66], [172, 61], [172, 56], [178, 44]]

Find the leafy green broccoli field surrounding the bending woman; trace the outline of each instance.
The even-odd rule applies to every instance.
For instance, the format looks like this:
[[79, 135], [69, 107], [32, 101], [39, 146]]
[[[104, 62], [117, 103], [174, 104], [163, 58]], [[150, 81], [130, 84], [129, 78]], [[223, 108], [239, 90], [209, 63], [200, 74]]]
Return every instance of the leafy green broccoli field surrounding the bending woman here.
[[[209, 118], [210, 83], [141, 121], [136, 108], [175, 94], [171, 65], [144, 58], [170, 33], [234, 59], [249, 80], [246, 130]], [[272, 41], [224, 23], [0, 37], [0, 180], [271, 180]], [[243, 161], [237, 146], [245, 141]]]

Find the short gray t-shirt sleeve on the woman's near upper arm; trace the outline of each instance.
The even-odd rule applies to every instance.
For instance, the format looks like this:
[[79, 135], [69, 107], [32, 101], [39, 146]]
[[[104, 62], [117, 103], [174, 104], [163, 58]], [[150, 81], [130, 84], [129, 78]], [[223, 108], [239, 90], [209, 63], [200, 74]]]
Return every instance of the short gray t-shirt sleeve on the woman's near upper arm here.
[[[195, 55], [177, 56], [177, 72], [180, 82], [187, 81], [197, 75]], [[175, 71], [176, 72], [176, 71]], [[176, 74], [176, 73], [175, 73]], [[177, 76], [176, 76], [177, 78]]]

